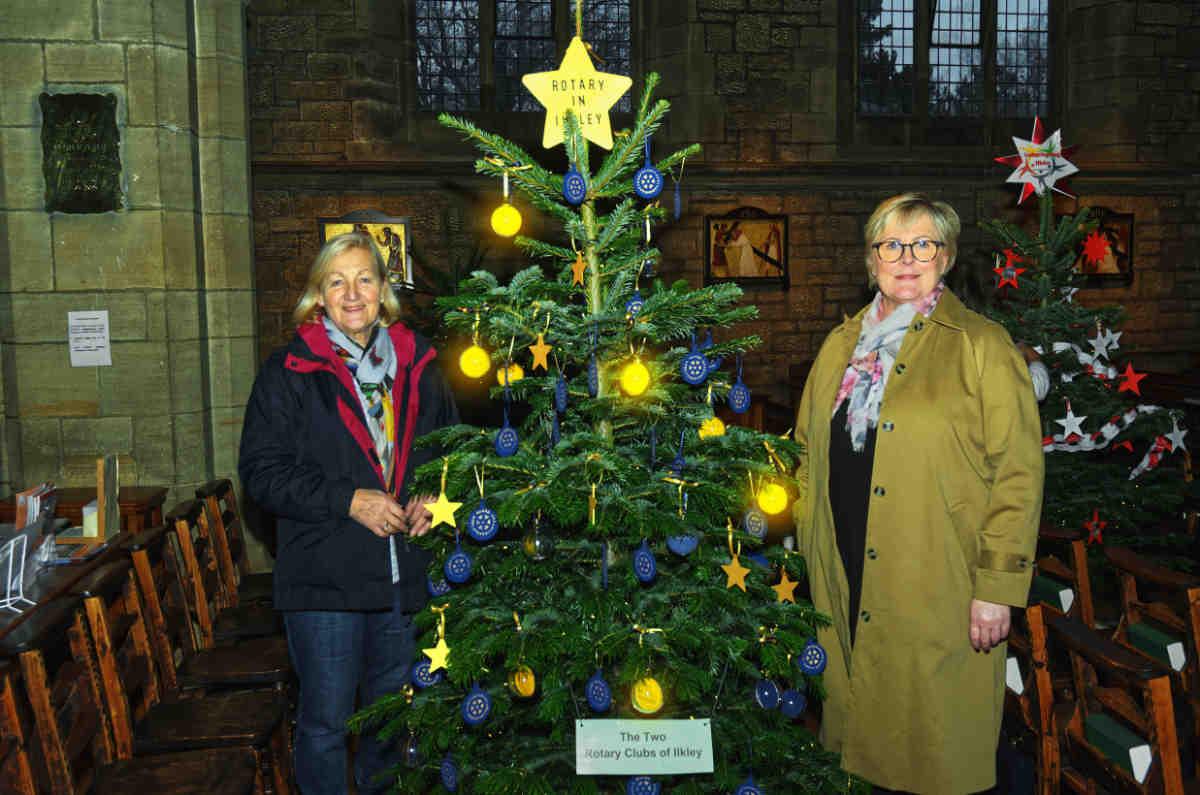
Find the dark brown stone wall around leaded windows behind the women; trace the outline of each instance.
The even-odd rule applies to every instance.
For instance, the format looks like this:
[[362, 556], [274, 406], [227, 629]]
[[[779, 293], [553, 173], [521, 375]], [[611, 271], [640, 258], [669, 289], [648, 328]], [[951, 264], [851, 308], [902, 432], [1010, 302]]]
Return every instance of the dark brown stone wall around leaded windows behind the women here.
[[[1141, 366], [1195, 366], [1200, 190], [1190, 174], [1200, 163], [1200, 6], [1187, 0], [1052, 5], [1060, 30], [1051, 46], [1062, 55], [1057, 115], [1046, 124], [1062, 126], [1066, 142], [1080, 145], [1074, 161], [1082, 171], [1070, 190], [1078, 205], [1136, 217], [1133, 283], [1086, 289], [1079, 299], [1126, 306], [1122, 342]], [[287, 334], [288, 311], [316, 251], [316, 217], [326, 210], [371, 207], [413, 215], [413, 251], [427, 267], [462, 261], [476, 247], [487, 250], [485, 267], [511, 267], [511, 246], [486, 228], [494, 181], [473, 177], [474, 151], [414, 106], [406, 12], [385, 26], [398, 32], [365, 48], [322, 32], [341, 26], [361, 38], [377, 7], [392, 6], [251, 0], [262, 351]], [[688, 163], [683, 217], [656, 231], [664, 275], [702, 282], [706, 215], [752, 205], [788, 216], [788, 288], [751, 291], [761, 318], [740, 329], [764, 339], [746, 365], [746, 381], [760, 394], [790, 405], [794, 395], [781, 379], [787, 365], [815, 355], [842, 313], [862, 305], [860, 231], [878, 199], [924, 190], [954, 203], [965, 222], [954, 281], [978, 297], [991, 277], [978, 221], [1003, 215], [1034, 222], [1032, 203], [1015, 207], [1004, 167], [991, 162], [1012, 154], [1010, 136], [1027, 137], [1031, 120], [908, 136], [902, 143], [876, 137], [878, 125], [858, 124], [848, 102], [848, 1], [635, 0], [634, 10], [634, 90], [642, 73], [658, 71], [660, 96], [673, 104], [655, 149], [692, 141], [704, 148]], [[288, 30], [305, 37], [282, 32]], [[316, 52], [304, 54], [295, 42], [310, 36]], [[388, 59], [395, 59], [394, 71]], [[385, 61], [386, 68], [368, 73], [371, 62]], [[368, 78], [371, 98], [364, 96]], [[322, 114], [331, 115], [317, 118]], [[541, 151], [540, 114], [472, 118]], [[614, 126], [628, 121], [613, 116]], [[559, 150], [544, 155], [548, 166], [565, 169], [560, 159]], [[1061, 211], [1075, 207], [1070, 199], [1058, 204]]]

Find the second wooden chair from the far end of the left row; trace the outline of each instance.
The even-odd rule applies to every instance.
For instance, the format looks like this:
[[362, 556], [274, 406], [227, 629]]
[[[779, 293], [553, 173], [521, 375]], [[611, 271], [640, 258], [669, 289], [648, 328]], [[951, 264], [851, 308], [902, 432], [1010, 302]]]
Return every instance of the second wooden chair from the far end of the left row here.
[[282, 635], [283, 624], [269, 604], [230, 606], [224, 594], [217, 561], [216, 533], [208, 524], [203, 503], [192, 500], [167, 514], [186, 580], [188, 606], [199, 632], [199, 647], [229, 644], [250, 638]]

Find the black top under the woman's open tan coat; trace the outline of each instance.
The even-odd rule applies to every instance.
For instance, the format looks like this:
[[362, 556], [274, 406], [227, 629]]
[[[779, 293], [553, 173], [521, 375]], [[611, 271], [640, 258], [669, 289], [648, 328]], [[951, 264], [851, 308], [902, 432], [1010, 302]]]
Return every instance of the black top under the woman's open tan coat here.
[[871, 506], [871, 470], [875, 465], [875, 429], [866, 430], [863, 450], [856, 453], [846, 431], [850, 400], [829, 420], [829, 507], [838, 551], [850, 585], [850, 642], [854, 644], [858, 604], [863, 593], [863, 554], [866, 549], [866, 513]]

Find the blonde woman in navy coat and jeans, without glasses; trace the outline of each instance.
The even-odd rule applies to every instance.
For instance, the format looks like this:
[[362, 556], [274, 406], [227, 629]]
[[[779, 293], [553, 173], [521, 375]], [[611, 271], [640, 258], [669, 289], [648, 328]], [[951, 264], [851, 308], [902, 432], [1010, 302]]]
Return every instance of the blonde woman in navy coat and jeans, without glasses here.
[[[400, 304], [371, 238], [331, 238], [308, 271], [296, 334], [268, 358], [246, 406], [239, 473], [278, 518], [275, 608], [300, 681], [295, 773], [305, 795], [344, 793], [346, 721], [355, 694], [398, 692], [415, 657], [427, 556], [407, 537], [430, 528], [408, 492], [414, 467], [439, 453], [413, 440], [458, 422], [454, 396]], [[359, 793], [398, 761], [364, 736]]]

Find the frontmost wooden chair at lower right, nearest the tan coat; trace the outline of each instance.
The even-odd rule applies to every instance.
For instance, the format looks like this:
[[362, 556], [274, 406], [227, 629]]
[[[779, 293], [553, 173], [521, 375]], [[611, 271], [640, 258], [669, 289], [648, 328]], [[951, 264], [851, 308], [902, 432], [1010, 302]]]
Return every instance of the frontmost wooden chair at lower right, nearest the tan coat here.
[[1069, 791], [1183, 795], [1170, 676], [1078, 618], [1046, 608], [1050, 677], [1058, 650], [1069, 659], [1072, 689], [1049, 686]]

